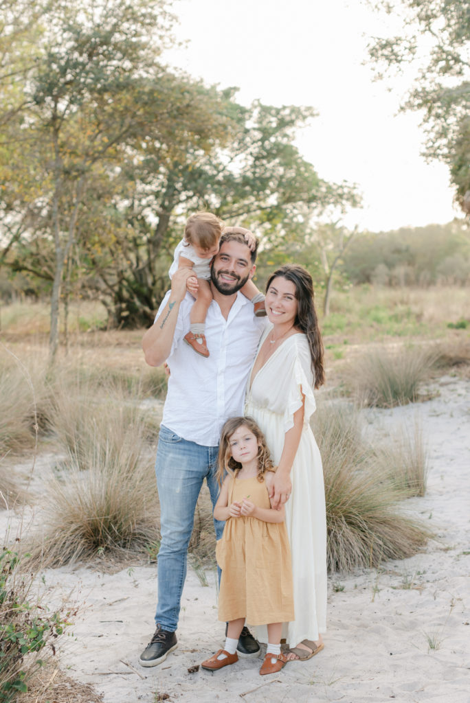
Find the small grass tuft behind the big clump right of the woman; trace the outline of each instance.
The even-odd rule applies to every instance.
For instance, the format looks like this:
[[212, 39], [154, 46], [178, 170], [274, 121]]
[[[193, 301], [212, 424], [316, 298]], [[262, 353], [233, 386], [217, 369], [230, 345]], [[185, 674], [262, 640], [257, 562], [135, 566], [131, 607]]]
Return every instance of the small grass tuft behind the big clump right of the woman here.
[[389, 444], [374, 450], [376, 470], [407, 496], [424, 496], [428, 475], [428, 453], [418, 422], [413, 430], [405, 427]]

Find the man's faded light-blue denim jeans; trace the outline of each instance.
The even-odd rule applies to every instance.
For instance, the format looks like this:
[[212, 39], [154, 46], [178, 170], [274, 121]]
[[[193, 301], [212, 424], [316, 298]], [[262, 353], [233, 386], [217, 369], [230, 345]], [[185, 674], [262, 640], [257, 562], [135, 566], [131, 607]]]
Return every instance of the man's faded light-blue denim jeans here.
[[[155, 474], [160, 498], [162, 540], [158, 552], [158, 605], [155, 623], [174, 632], [178, 625], [181, 596], [186, 579], [188, 544], [193, 531], [194, 510], [206, 479], [212, 505], [219, 495], [217, 446], [186, 441], [160, 426]], [[215, 536], [222, 537], [224, 522], [214, 520]]]

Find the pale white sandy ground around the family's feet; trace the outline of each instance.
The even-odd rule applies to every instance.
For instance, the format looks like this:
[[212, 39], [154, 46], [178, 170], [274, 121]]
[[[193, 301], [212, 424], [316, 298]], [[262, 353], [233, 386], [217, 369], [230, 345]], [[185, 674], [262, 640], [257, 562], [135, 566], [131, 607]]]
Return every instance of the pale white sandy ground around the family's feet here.
[[[116, 574], [80, 567], [44, 574], [54, 599], [73, 591], [81, 604], [73, 636], [61, 645], [61, 666], [93, 684], [105, 703], [153, 703], [163, 694], [181, 703], [239, 697], [250, 703], [469, 703], [470, 381], [446, 377], [436, 389], [438, 397], [424, 404], [367, 411], [383, 434], [419, 418], [430, 459], [428, 490], [407, 508], [429, 520], [436, 539], [410, 559], [330, 576], [326, 646], [317, 657], [270, 677], [259, 676], [261, 659], [189, 672], [224, 640], [215, 572], [205, 572], [203, 585], [189, 569], [178, 649], [160, 666], [142, 669], [139, 654], [154, 629], [156, 566]], [[0, 530], [7, 520], [1, 511]]]

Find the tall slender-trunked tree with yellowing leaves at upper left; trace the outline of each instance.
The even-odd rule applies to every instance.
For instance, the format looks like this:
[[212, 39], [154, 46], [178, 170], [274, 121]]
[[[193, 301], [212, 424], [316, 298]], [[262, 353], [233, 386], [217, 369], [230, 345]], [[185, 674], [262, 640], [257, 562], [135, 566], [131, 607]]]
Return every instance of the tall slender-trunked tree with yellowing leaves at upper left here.
[[[206, 132], [215, 125], [210, 104], [196, 117], [189, 110], [198, 85], [158, 63], [167, 46], [165, 6], [165, 0], [109, 0], [80, 7], [53, 1], [42, 17], [34, 70], [23, 86], [27, 99], [8, 120], [14, 168], [4, 158], [1, 181], [19, 200], [21, 217], [27, 201], [34, 202], [37, 221], [34, 226], [30, 222], [26, 240], [39, 236], [53, 241], [52, 358], [63, 277], [77, 244], [87, 184], [106, 169], [119, 171], [120, 163], [146, 141], [171, 153], [179, 134], [186, 138], [201, 124]], [[25, 187], [23, 178], [8, 181], [16, 167], [32, 173], [34, 183], [41, 174], [38, 193], [31, 183]], [[16, 266], [23, 264], [17, 259]]]

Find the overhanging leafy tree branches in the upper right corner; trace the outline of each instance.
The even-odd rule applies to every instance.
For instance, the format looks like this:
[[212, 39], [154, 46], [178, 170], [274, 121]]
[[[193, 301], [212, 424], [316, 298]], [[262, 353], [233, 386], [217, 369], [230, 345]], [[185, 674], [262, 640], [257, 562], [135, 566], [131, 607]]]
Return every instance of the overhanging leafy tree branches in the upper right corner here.
[[[374, 38], [369, 56], [379, 77], [385, 67], [412, 67], [415, 77], [402, 110], [422, 112], [424, 155], [450, 167], [456, 199], [464, 205], [469, 155], [470, 9], [467, 0], [379, 0], [376, 8], [402, 18], [401, 36]], [[462, 145], [466, 144], [462, 150]]]

